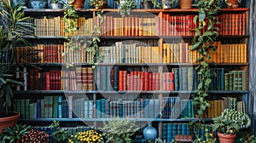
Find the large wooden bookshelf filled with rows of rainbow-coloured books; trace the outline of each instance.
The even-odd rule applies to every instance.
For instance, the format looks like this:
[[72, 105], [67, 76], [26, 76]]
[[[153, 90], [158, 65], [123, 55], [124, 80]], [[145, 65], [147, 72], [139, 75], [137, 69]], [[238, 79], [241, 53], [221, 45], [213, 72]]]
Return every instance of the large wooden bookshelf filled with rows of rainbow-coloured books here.
[[[158, 136], [165, 138], [166, 131], [163, 130], [176, 125], [185, 126], [183, 124], [197, 120], [195, 113], [194, 115], [190, 115], [193, 114], [193, 106], [191, 104], [187, 105], [191, 103], [190, 95], [195, 93], [194, 90], [197, 80], [195, 74], [195, 66], [198, 65], [195, 62], [197, 55], [189, 51], [193, 38], [193, 31], [190, 31], [190, 28], [195, 27], [193, 25], [193, 16], [195, 16], [197, 10], [134, 9], [129, 18], [122, 19], [117, 14], [117, 9], [104, 9], [106, 14], [103, 19], [108, 23], [103, 22], [102, 24], [102, 31], [104, 32], [100, 36], [102, 42], [100, 43], [99, 50], [105, 59], [102, 63], [97, 63], [95, 69], [92, 69], [89, 62], [93, 60], [93, 55], [86, 53], [87, 51], [85, 50], [82, 52], [77, 51], [77, 53], [70, 51], [70, 58], [74, 62], [74, 66], [70, 68], [65, 67], [67, 64], [65, 60], [61, 59], [60, 52], [64, 50], [68, 51], [68, 49], [64, 48], [63, 44], [65, 43], [65, 39], [63, 38], [64, 33], [61, 33], [63, 29], [63, 26], [61, 26], [62, 9], [25, 9], [26, 14], [34, 16], [38, 19], [38, 23], [43, 23], [44, 26], [38, 26], [38, 28], [41, 27], [41, 29], [37, 29], [38, 38], [25, 36], [31, 41], [32, 47], [21, 47], [17, 53], [22, 55], [35, 49], [35, 54], [40, 57], [40, 60], [26, 59], [20, 62], [30, 61], [33, 65], [41, 67], [42, 70], [33, 72], [36, 75], [40, 75], [39, 77], [31, 76], [30, 72], [28, 72], [29, 74], [26, 77], [24, 75], [22, 77], [22, 74], [20, 74], [20, 77], [26, 80], [28, 88], [34, 81], [41, 81], [41, 83], [36, 84], [38, 88], [15, 91], [15, 99], [20, 102], [18, 104], [24, 104], [23, 102], [27, 102], [28, 104], [26, 105], [27, 107], [20, 107], [20, 110], [24, 108], [23, 110], [29, 111], [30, 108], [28, 106], [31, 103], [38, 103], [37, 101], [42, 101], [43, 99], [45, 102], [45, 97], [53, 99], [50, 101], [51, 105], [48, 106], [61, 105], [63, 108], [63, 104], [67, 103], [63, 103], [62, 101], [65, 100], [68, 102], [68, 99], [75, 106], [65, 106], [65, 112], [67, 113], [65, 117], [61, 117], [63, 115], [58, 116], [58, 112], [60, 111], [54, 111], [53, 107], [49, 110], [55, 112], [53, 113], [55, 117], [40, 117], [42, 115], [36, 113], [38, 117], [36, 115], [26, 115], [27, 117], [20, 118], [20, 122], [40, 124], [60, 121], [61, 123], [71, 124], [89, 123], [97, 126], [97, 123], [100, 124], [103, 121], [111, 120], [113, 117], [121, 116], [123, 118], [128, 117], [130, 120], [136, 120], [139, 123], [154, 122], [155, 128], [158, 129]], [[211, 68], [218, 69], [216, 70], [218, 77], [212, 79], [216, 87], [212, 87], [209, 91], [209, 100], [212, 102], [214, 100], [223, 100], [223, 97], [230, 97], [233, 99], [236, 98], [237, 101], [244, 101], [244, 105], [248, 105], [248, 11], [249, 9], [247, 8], [221, 9], [220, 11], [220, 20], [225, 20], [226, 15], [231, 16], [230, 21], [225, 21], [224, 26], [220, 25], [221, 35], [218, 37], [218, 43], [216, 44], [217, 52], [212, 55], [217, 66], [212, 64]], [[86, 33], [86, 35], [79, 30], [86, 31], [92, 29], [91, 24], [93, 24], [93, 19], [96, 16], [96, 9], [79, 9], [78, 12], [80, 17], [84, 18], [81, 21], [87, 20], [87, 22], [78, 24], [79, 36], [80, 38], [91, 39], [92, 35], [90, 32], [89, 34]], [[39, 18], [38, 14], [41, 14]], [[240, 29], [235, 30], [231, 28], [227, 30], [225, 27], [233, 27], [234, 21], [232, 19], [235, 17], [232, 17], [232, 15], [235, 14], [239, 15], [237, 20], [241, 20], [240, 23], [235, 22], [237, 23], [236, 26], [240, 27]], [[139, 21], [142, 19], [146, 24], [125, 23], [125, 21], [137, 19]], [[115, 28], [114, 23], [119, 24], [116, 25], [119, 27], [118, 29]], [[178, 30], [172, 31], [173, 27]], [[41, 33], [41, 31], [43, 32]], [[79, 43], [79, 46], [82, 45]], [[45, 50], [47, 47], [50, 49], [48, 53]], [[56, 57], [53, 57], [52, 53]], [[77, 59], [78, 57], [79, 59]], [[47, 58], [50, 60], [47, 60]], [[87, 72], [81, 72], [82, 70], [80, 68], [83, 67], [87, 69]], [[90, 72], [90, 76], [88, 75], [88, 69], [93, 71]], [[182, 70], [180, 71], [180, 69]], [[26, 70], [29, 71], [29, 69]], [[77, 72], [77, 70], [80, 72]], [[237, 86], [241, 84], [241, 89], [236, 87], [234, 90], [235, 87], [231, 85], [229, 89], [225, 89], [224, 73], [230, 71], [244, 71], [242, 73], [244, 77], [237, 77], [236, 79]], [[43, 78], [44, 72], [49, 72], [49, 74], [54, 72], [52, 74], [55, 75], [48, 77], [50, 87], [47, 90], [42, 87], [42, 84], [46, 82]], [[233, 72], [231, 74], [234, 75]], [[124, 73], [126, 76], [124, 76]], [[122, 77], [118, 77], [120, 74], [122, 74]], [[76, 78], [75, 75], [79, 75], [79, 78]], [[83, 77], [83, 75], [85, 76]], [[239, 76], [238, 73], [237, 76]], [[229, 80], [234, 79], [229, 78]], [[238, 80], [241, 80], [241, 82], [238, 82]], [[76, 87], [81, 83], [83, 84], [83, 82], [87, 88]], [[68, 85], [64, 85], [63, 87], [63, 83], [68, 83]], [[218, 87], [219, 83], [222, 83], [222, 87]], [[231, 81], [231, 83], [235, 83], [235, 81]], [[54, 85], [57, 85], [58, 88], [51, 89]], [[72, 86], [71, 89], [70, 86]], [[89, 86], [90, 88], [88, 88]], [[55, 102], [55, 97], [61, 97], [61, 103]], [[70, 97], [73, 97], [73, 99]], [[81, 115], [79, 114], [78, 117], [73, 117], [72, 112], [67, 112], [72, 108], [76, 112], [84, 111], [85, 100], [90, 101], [86, 103], [90, 105], [86, 106], [88, 112], [88, 108], [90, 108], [90, 114], [85, 115], [84, 112]], [[151, 103], [151, 100], [153, 103]], [[178, 104], [172, 105], [172, 102], [176, 103], [176, 101]], [[106, 104], [106, 102], [108, 103]], [[227, 103], [230, 103], [230, 101]], [[119, 111], [121, 110], [119, 109], [120, 105], [123, 108], [122, 114]], [[224, 100], [217, 101], [217, 105], [224, 105]], [[79, 109], [79, 106], [83, 106], [84, 108]], [[189, 106], [188, 110], [191, 112], [185, 113], [180, 111], [187, 106]], [[33, 109], [37, 108], [33, 107]], [[106, 108], [108, 112], [106, 112]], [[133, 108], [134, 110], [132, 110]], [[111, 110], [113, 111], [111, 112]], [[174, 111], [173, 115], [171, 115], [173, 110], [177, 111]], [[211, 111], [214, 109], [208, 110]], [[248, 107], [245, 106], [243, 110], [248, 112]], [[153, 115], [149, 111], [154, 111]], [[219, 111], [221, 109], [218, 109]], [[102, 115], [102, 113], [106, 115]], [[179, 114], [183, 116], [180, 117]], [[211, 115], [206, 115], [206, 121], [211, 122], [211, 117], [217, 114], [212, 113]], [[187, 134], [187, 131], [184, 132]]]

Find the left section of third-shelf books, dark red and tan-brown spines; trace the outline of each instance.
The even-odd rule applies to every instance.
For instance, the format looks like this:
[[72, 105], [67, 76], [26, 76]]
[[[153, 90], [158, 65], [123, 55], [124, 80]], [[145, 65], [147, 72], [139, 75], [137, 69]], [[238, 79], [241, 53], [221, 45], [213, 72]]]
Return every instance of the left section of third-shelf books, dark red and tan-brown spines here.
[[[92, 67], [76, 67], [68, 70], [39, 72], [37, 68], [18, 71], [16, 78], [24, 83], [17, 90], [93, 90]], [[20, 70], [20, 69], [18, 69]]]

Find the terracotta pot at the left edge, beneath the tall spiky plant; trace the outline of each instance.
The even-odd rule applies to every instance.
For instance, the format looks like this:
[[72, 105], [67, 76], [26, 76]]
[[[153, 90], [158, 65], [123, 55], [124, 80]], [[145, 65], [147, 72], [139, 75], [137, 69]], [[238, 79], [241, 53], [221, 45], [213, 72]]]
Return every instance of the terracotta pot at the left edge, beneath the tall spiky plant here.
[[18, 123], [20, 118], [20, 112], [11, 112], [11, 113], [13, 113], [13, 116], [0, 117], [0, 133], [3, 131], [3, 129], [7, 127], [12, 127], [16, 123]]

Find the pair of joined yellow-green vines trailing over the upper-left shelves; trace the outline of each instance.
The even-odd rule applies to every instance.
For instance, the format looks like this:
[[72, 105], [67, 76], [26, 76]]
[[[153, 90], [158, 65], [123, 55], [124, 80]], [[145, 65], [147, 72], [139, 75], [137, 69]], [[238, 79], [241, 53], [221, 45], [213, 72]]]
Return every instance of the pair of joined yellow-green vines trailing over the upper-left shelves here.
[[[100, 1], [103, 2], [103, 0], [100, 0]], [[76, 22], [79, 18], [79, 14], [74, 9], [74, 6], [72, 5], [72, 3], [73, 1], [68, 1], [67, 8], [64, 11], [64, 16], [63, 16], [63, 21], [65, 23], [64, 38], [67, 40], [67, 43], [65, 43], [64, 46], [72, 51], [81, 50], [82, 48], [84, 48], [86, 51], [92, 52], [92, 54], [95, 55], [96, 60], [101, 60], [101, 55], [96, 55], [97, 53], [96, 50], [98, 49], [98, 43], [101, 42], [99, 37], [101, 35], [100, 26], [103, 20], [102, 18], [103, 10], [101, 9], [101, 6], [103, 3], [96, 3], [96, 0], [90, 1], [90, 4], [94, 4], [94, 6], [96, 7], [96, 15], [97, 15], [96, 19], [98, 19], [97, 21], [99, 21], [98, 23], [96, 23], [94, 27], [92, 40], [90, 39], [88, 40], [86, 38], [83, 39], [83, 38], [80, 38], [78, 35], [76, 35], [77, 29], [78, 29], [76, 27]], [[80, 45], [77, 43], [81, 43], [83, 45]], [[88, 46], [91, 43], [93, 44], [93, 47]], [[64, 58], [67, 57], [67, 53], [62, 53], [62, 57]], [[95, 65], [96, 60], [92, 61], [90, 64]], [[67, 64], [67, 67], [73, 66], [73, 63], [67, 61], [67, 58], [66, 58], [66, 64]]]

